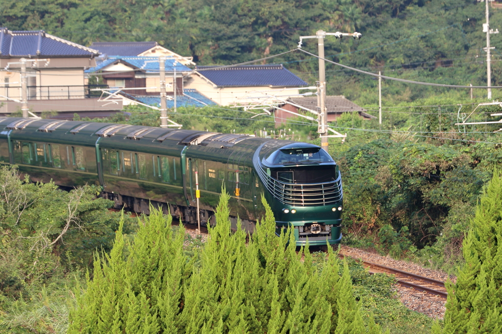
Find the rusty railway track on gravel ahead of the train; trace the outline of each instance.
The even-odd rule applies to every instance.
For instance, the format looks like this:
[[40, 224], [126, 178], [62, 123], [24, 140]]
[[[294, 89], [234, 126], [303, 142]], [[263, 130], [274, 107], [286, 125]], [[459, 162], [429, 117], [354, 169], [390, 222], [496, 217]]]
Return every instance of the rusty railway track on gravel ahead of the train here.
[[[339, 254], [338, 256], [340, 258], [345, 257], [345, 255], [343, 254]], [[448, 296], [444, 282], [440, 280], [412, 274], [410, 272], [387, 267], [381, 264], [363, 261], [356, 258], [353, 259], [359, 261], [364, 267], [368, 268], [368, 271], [370, 273], [386, 273], [396, 275], [398, 285], [405, 286], [420, 292], [433, 294], [441, 298], [446, 298]]]

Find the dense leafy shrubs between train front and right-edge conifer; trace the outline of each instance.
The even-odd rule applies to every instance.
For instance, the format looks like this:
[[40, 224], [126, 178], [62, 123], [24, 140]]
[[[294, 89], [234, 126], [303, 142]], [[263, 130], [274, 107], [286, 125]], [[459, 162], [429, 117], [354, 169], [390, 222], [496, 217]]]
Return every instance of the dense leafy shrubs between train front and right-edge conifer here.
[[[343, 173], [344, 242], [454, 268], [482, 186], [502, 162], [499, 135], [439, 132], [437, 115], [417, 133], [402, 117], [398, 131], [351, 130], [330, 146]], [[378, 128], [371, 122], [344, 115], [338, 126]]]

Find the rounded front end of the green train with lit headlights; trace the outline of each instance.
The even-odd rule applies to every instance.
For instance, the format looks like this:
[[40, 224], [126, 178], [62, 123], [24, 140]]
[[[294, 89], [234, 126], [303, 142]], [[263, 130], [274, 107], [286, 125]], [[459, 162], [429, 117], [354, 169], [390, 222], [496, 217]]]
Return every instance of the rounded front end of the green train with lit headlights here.
[[253, 159], [276, 218], [277, 232], [294, 228], [298, 246], [341, 240], [343, 191], [335, 161], [319, 146], [271, 141]]

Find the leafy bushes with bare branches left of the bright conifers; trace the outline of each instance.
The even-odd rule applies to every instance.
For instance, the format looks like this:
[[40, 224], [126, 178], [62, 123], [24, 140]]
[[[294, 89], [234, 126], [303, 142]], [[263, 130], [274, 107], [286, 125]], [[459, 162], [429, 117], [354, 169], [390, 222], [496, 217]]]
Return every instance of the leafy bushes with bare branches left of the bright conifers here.
[[[92, 269], [96, 248], [111, 249], [118, 228], [119, 214], [108, 212], [113, 202], [96, 198], [96, 190], [62, 191], [0, 166], [0, 316], [11, 313], [0, 332], [17, 332], [19, 322], [65, 327], [72, 299], [65, 284]], [[130, 226], [128, 219], [126, 232]]]

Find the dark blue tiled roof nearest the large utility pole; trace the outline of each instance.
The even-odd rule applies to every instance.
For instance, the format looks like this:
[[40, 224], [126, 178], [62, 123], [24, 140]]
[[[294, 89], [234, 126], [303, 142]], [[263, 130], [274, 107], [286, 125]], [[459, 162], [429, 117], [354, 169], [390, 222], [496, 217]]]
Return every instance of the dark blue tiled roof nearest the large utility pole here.
[[280, 65], [251, 65], [218, 68], [197, 66], [200, 75], [216, 86], [306, 86], [307, 83]]

